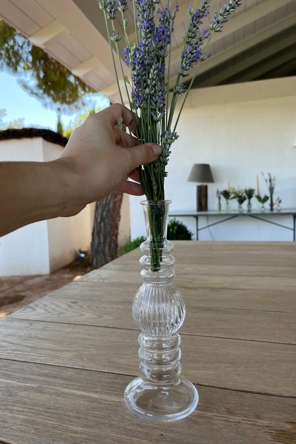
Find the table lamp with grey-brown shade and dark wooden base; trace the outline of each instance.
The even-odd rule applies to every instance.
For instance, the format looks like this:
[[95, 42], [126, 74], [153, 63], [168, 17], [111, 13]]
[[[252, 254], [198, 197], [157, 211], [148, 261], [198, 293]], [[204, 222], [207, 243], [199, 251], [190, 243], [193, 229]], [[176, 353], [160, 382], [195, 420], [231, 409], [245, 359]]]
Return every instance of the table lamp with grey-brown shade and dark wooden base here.
[[195, 163], [191, 168], [188, 182], [199, 182], [197, 185], [197, 211], [208, 211], [208, 186], [205, 183], [213, 183], [213, 175], [208, 163]]

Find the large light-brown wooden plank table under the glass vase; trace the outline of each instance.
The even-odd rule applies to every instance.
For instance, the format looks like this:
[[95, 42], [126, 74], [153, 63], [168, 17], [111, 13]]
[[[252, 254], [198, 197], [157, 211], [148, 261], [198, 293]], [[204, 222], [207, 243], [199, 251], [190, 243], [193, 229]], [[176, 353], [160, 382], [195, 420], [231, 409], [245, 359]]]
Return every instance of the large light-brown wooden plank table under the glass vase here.
[[174, 256], [196, 411], [155, 424], [124, 404], [137, 249], [0, 320], [0, 443], [296, 442], [296, 244], [175, 242]]

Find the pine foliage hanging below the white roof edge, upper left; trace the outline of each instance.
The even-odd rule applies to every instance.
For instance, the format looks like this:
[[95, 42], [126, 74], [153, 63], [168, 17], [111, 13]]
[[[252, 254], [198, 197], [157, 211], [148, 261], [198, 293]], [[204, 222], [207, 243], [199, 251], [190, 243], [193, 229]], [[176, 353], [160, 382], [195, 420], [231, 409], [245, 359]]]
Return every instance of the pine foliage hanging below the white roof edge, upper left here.
[[0, 20], [0, 69], [5, 68], [18, 75], [30, 71], [35, 82], [32, 84], [21, 79], [24, 90], [44, 105], [62, 105], [65, 111], [79, 109], [85, 104], [84, 96], [96, 92], [47, 52], [32, 45], [20, 32]]

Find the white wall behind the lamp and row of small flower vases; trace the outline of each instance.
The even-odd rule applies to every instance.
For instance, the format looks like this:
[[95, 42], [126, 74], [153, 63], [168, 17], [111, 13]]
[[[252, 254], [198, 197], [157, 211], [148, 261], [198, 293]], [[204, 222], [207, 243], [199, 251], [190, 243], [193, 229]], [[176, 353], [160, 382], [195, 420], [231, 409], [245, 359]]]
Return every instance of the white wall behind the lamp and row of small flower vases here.
[[[196, 210], [196, 185], [187, 182], [193, 163], [209, 163], [215, 183], [208, 186], [208, 208], [216, 210], [216, 189], [250, 186], [267, 193], [261, 171], [276, 176], [275, 197], [296, 208], [296, 77], [194, 90], [178, 123], [179, 139], [167, 166], [166, 198], [171, 211]], [[143, 197], [142, 197], [143, 198]], [[130, 197], [131, 238], [145, 234], [142, 198]], [[252, 206], [257, 208], [256, 199]], [[244, 208], [246, 203], [244, 204]], [[237, 202], [231, 201], [237, 209]], [[264, 216], [268, 218], [268, 216]], [[195, 220], [179, 218], [195, 236]], [[292, 227], [292, 216], [272, 221]], [[208, 218], [208, 222], [218, 219]], [[199, 218], [199, 225], [207, 225]], [[237, 218], [199, 232], [200, 240], [292, 240], [292, 231]]]

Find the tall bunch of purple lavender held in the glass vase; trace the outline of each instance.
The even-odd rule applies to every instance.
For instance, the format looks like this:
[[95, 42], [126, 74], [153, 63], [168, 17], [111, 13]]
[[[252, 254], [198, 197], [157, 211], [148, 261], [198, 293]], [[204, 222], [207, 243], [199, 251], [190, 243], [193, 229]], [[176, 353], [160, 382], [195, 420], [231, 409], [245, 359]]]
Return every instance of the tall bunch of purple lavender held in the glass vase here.
[[[138, 168], [139, 182], [148, 201], [163, 201], [165, 198], [164, 179], [167, 175], [166, 165], [171, 154], [171, 146], [178, 138], [176, 129], [185, 100], [201, 63], [210, 56], [210, 54], [206, 54], [206, 50], [213, 34], [222, 32], [223, 24], [227, 22], [229, 16], [241, 5], [239, 0], [229, 0], [229, 3], [225, 4], [224, 8], [214, 15], [213, 21], [209, 24], [210, 31], [208, 29], [200, 30], [203, 20], [209, 14], [210, 0], [202, 1], [198, 9], [195, 9], [196, 0], [194, 0], [193, 8], [190, 8], [188, 5], [187, 13], [189, 20], [183, 38], [184, 45], [181, 52], [180, 68], [176, 81], [174, 84], [171, 84], [170, 43], [178, 6], [173, 10], [171, 0], [169, 0], [166, 8], [162, 10], [158, 8], [160, 3], [160, 0], [133, 0], [130, 3], [133, 6], [133, 25], [136, 40], [135, 42], [130, 42], [127, 33], [128, 20], [124, 16], [128, 8], [127, 0], [118, 0], [118, 5], [114, 0], [101, 0], [99, 2], [99, 7], [103, 10], [105, 16], [115, 77], [122, 105], [122, 92], [119, 87], [113, 48], [115, 48], [118, 56], [129, 107], [134, 112], [133, 120], [136, 131], [134, 136], [138, 144], [158, 143], [162, 147], [162, 154], [158, 159], [148, 165], [140, 165]], [[119, 13], [126, 43], [126, 47], [122, 51], [125, 62], [122, 60], [118, 48], [118, 42], [122, 40], [123, 36], [120, 36], [114, 27], [114, 20], [118, 19]], [[126, 63], [130, 68], [129, 78], [124, 75], [122, 63]], [[197, 63], [197, 66], [194, 68], [194, 74], [189, 87], [186, 88], [183, 81], [189, 76], [189, 71], [193, 69], [195, 63]], [[168, 94], [169, 91], [171, 91], [170, 96]], [[184, 98], [182, 97], [181, 108], [173, 124], [175, 107], [182, 95], [184, 95]], [[119, 129], [122, 130], [122, 119], [118, 121], [118, 125]], [[128, 129], [130, 131], [130, 127]], [[131, 140], [134, 144], [132, 137]], [[154, 237], [156, 244], [154, 249], [158, 251], [157, 244], [161, 241], [157, 239], [162, 237], [162, 226], [159, 221], [161, 218], [163, 219], [163, 211], [159, 206], [155, 206], [155, 208], [156, 210], [150, 215], [150, 222], [155, 227]], [[159, 261], [156, 260], [154, 266], [158, 269]]]

